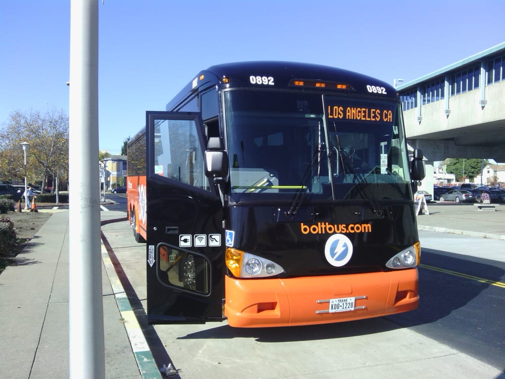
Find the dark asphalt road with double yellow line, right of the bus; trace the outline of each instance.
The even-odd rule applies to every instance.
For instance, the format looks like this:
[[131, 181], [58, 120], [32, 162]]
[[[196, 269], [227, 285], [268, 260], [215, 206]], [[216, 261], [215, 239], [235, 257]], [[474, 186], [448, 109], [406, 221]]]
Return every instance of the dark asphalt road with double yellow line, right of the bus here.
[[386, 318], [504, 370], [505, 241], [423, 230], [420, 240], [419, 308]]

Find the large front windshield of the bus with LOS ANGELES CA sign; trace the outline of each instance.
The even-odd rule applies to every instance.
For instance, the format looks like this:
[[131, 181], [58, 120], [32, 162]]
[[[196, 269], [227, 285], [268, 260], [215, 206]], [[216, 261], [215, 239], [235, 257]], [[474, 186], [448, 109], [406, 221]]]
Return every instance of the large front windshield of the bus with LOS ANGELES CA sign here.
[[268, 90], [224, 99], [232, 202], [412, 199], [396, 102]]

